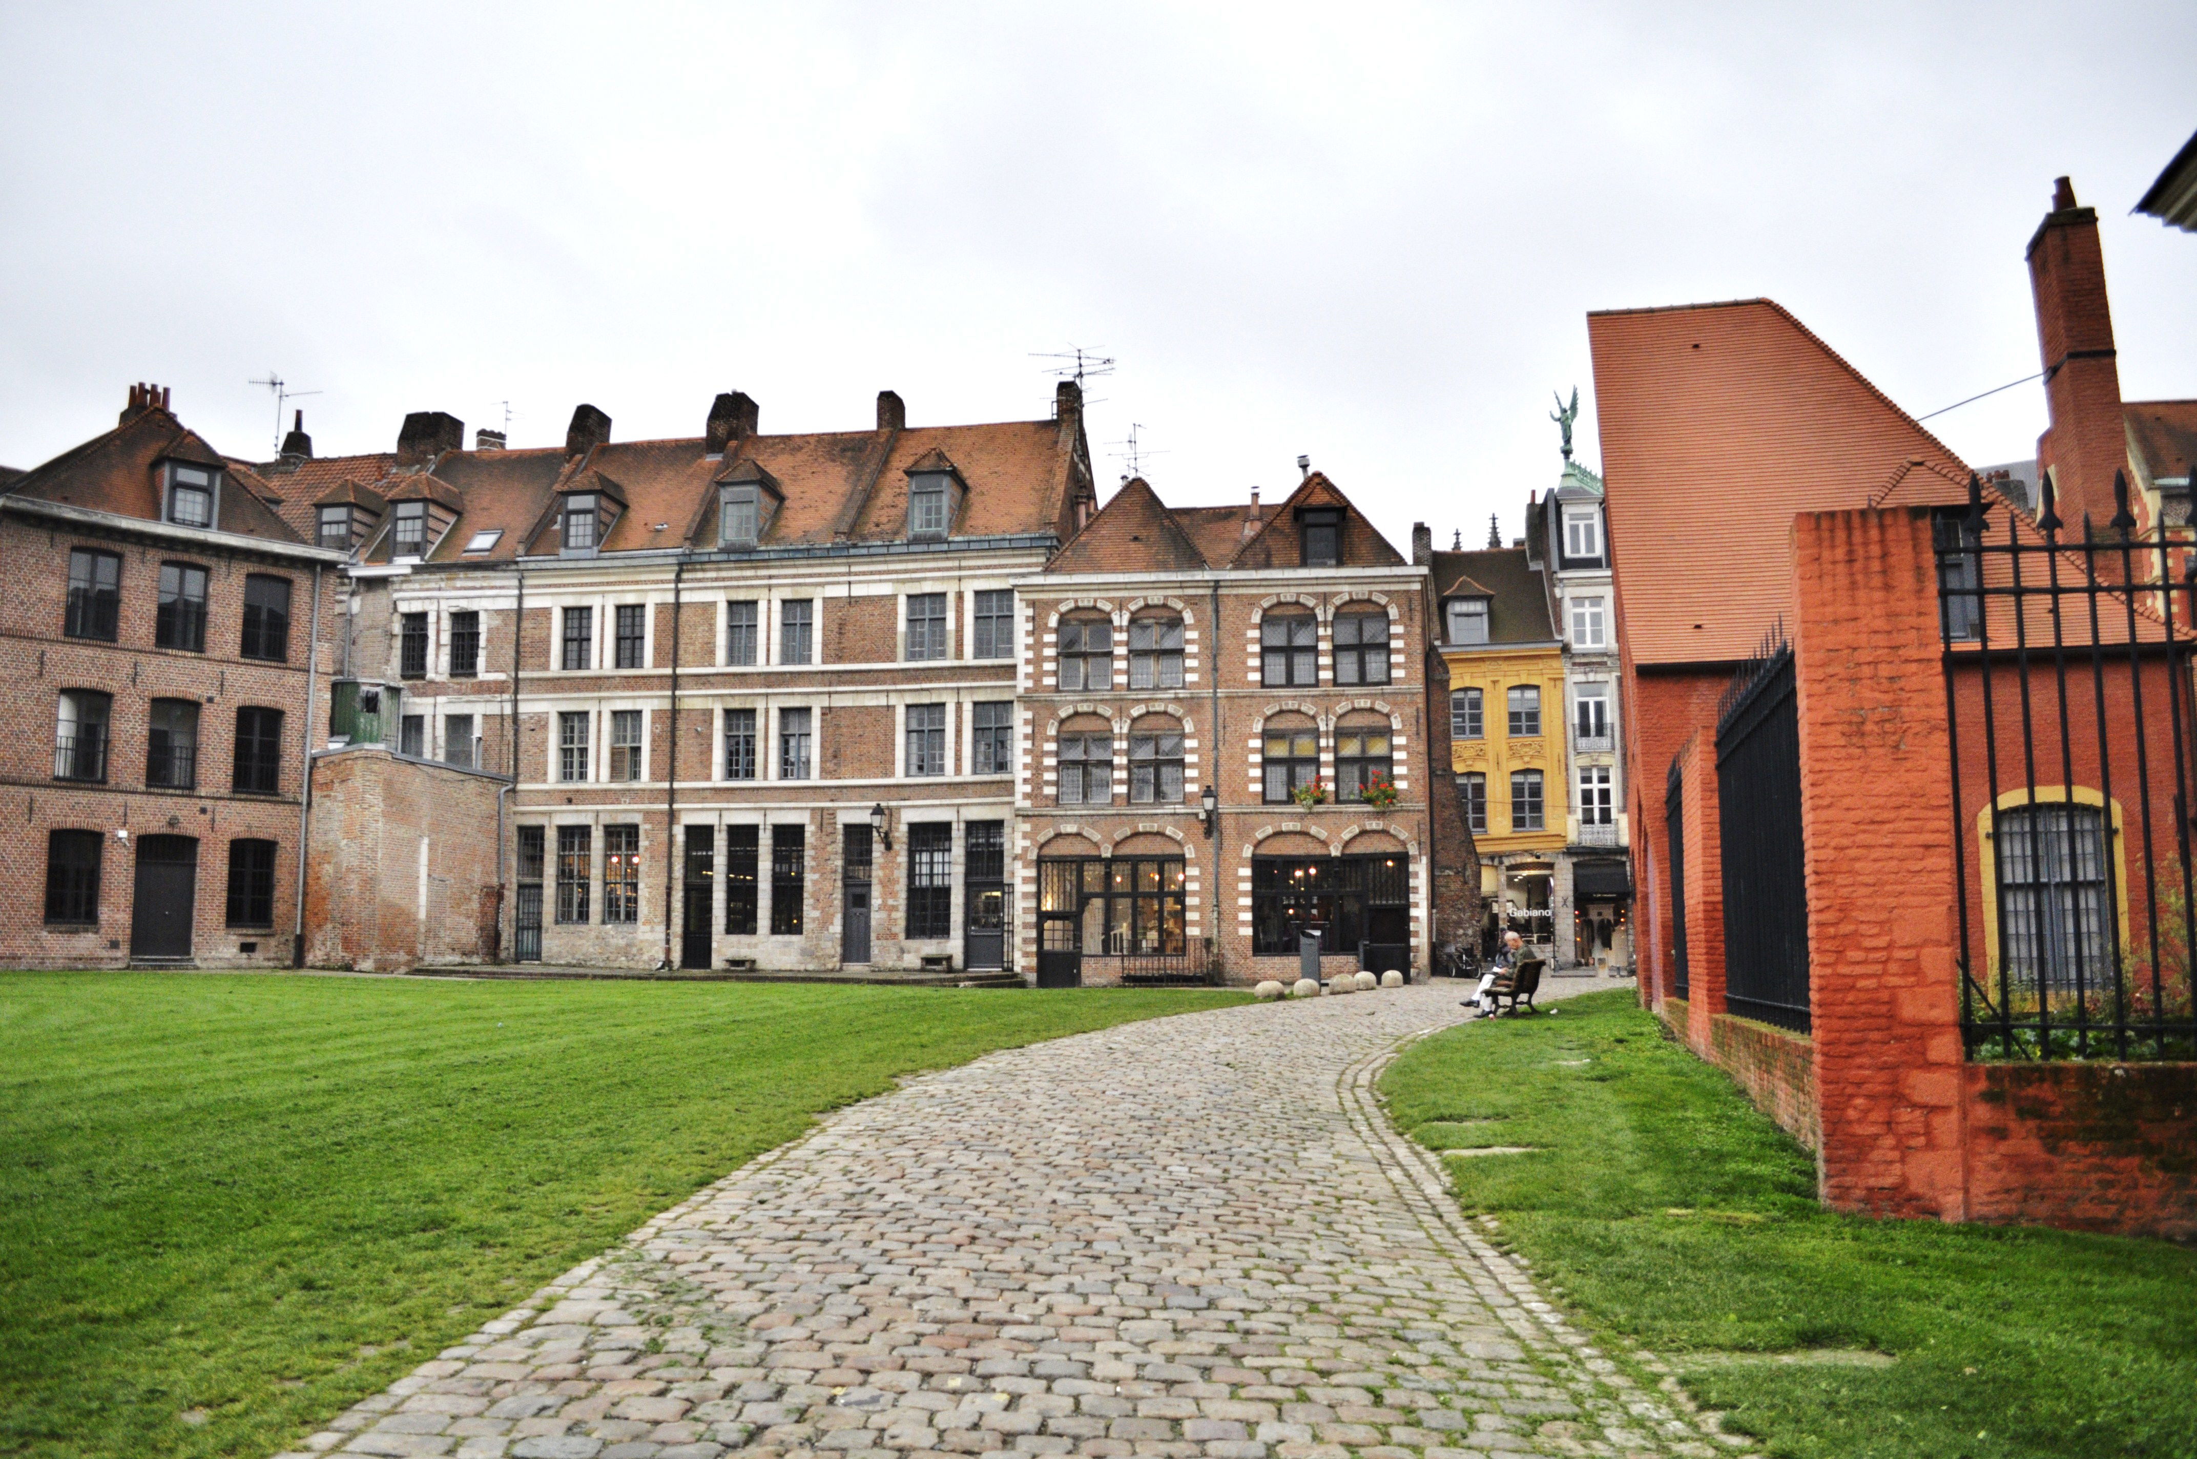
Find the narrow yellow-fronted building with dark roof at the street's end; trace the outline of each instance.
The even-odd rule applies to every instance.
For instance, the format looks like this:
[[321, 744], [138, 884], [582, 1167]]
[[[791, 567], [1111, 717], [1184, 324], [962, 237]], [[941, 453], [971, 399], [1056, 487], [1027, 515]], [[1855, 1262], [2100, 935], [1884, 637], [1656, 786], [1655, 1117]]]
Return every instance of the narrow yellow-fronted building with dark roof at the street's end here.
[[1551, 892], [1571, 813], [1564, 644], [1547, 573], [1523, 547], [1437, 552], [1450, 668], [1450, 769], [1481, 853], [1485, 940], [1553, 945]]

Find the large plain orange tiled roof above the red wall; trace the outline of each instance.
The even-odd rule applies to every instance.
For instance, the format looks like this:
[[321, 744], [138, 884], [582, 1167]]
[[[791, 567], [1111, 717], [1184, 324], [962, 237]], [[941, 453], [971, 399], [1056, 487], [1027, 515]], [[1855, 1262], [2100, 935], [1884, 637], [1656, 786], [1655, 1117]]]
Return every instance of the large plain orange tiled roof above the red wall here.
[[1639, 664], [1744, 659], [1791, 622], [1795, 514], [1964, 501], [1960, 457], [1769, 299], [1597, 312], [1586, 332]]

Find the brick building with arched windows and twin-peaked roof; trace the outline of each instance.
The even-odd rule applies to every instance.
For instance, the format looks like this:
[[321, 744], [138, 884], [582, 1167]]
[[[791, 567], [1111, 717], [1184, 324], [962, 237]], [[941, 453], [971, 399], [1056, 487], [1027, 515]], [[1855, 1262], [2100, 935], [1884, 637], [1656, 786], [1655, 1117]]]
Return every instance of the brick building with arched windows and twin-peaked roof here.
[[1309, 472], [1279, 505], [1129, 481], [1015, 582], [1017, 938], [1041, 984], [1294, 980], [1307, 925], [1327, 971], [1426, 969], [1476, 918], [1426, 578]]

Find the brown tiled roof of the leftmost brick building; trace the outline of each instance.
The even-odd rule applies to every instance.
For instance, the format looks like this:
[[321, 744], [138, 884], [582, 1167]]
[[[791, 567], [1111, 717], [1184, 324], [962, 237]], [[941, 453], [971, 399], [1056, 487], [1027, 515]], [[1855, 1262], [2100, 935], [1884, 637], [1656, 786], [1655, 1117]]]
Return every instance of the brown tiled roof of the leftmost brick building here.
[[226, 459], [160, 404], [125, 411], [112, 431], [9, 481], [7, 494], [160, 521], [160, 488], [154, 477], [160, 461], [231, 472], [231, 488], [220, 492], [215, 530], [288, 545], [305, 541], [268, 505], [272, 486], [266, 479], [250, 466]]

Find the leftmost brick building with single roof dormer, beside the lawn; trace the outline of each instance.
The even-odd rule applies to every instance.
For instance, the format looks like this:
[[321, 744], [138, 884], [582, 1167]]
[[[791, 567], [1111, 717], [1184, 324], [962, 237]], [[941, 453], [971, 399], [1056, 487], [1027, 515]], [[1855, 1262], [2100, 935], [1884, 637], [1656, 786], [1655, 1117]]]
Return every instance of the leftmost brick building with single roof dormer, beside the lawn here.
[[0, 486], [0, 962], [290, 965], [343, 554], [272, 499], [145, 385]]

